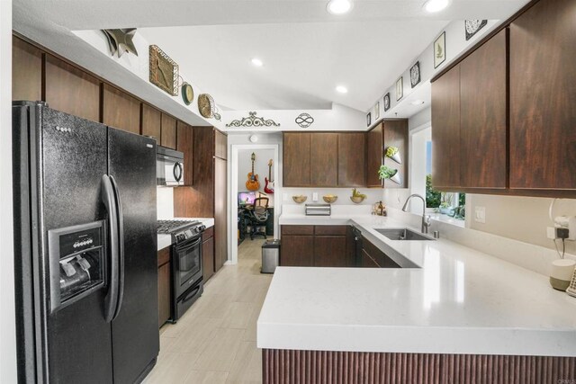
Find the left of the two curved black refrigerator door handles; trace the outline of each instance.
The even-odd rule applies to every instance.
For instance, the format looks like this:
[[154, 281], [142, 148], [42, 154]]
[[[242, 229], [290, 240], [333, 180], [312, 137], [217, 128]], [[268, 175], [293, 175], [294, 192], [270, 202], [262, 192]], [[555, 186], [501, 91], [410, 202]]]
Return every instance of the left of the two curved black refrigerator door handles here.
[[102, 176], [102, 201], [108, 211], [108, 225], [110, 227], [110, 261], [108, 294], [104, 299], [104, 317], [107, 323], [112, 321], [114, 311], [118, 304], [118, 212], [112, 190], [112, 183], [107, 174]]

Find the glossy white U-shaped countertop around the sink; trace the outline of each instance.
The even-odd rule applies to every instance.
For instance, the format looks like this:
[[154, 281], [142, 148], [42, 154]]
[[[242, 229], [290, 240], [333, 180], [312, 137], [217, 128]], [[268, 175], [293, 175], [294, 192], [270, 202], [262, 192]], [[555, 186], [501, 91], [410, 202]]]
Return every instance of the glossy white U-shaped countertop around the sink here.
[[258, 318], [259, 348], [576, 356], [576, 299], [544, 275], [444, 239], [374, 231], [405, 227], [392, 219], [302, 216], [280, 222], [355, 225], [414, 267], [277, 268]]

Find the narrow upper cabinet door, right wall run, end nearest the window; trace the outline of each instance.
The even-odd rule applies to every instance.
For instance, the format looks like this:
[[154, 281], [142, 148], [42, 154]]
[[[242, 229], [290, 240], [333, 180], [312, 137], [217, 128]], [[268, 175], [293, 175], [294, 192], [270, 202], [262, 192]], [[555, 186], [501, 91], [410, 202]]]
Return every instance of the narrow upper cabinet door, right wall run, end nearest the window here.
[[460, 65], [432, 84], [432, 184], [460, 187]]

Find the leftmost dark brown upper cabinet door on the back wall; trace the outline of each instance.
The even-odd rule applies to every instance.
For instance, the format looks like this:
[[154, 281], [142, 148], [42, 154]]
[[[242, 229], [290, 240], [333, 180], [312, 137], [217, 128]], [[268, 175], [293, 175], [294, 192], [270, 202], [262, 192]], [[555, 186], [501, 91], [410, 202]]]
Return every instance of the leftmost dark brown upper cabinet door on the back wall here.
[[284, 186], [311, 186], [311, 133], [284, 132]]

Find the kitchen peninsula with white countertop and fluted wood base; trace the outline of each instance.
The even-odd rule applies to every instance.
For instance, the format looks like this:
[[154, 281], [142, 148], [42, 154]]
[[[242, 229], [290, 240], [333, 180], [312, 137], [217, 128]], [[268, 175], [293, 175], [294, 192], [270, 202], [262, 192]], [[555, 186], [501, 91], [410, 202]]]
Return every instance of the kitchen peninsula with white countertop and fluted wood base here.
[[[308, 219], [286, 215], [281, 223]], [[508, 382], [572, 377], [576, 299], [544, 275], [446, 239], [390, 240], [375, 230], [406, 227], [396, 219], [313, 220], [359, 228], [387, 255], [392, 249], [418, 267], [276, 270], [258, 318], [265, 382], [308, 375], [407, 382], [385, 379], [399, 372], [416, 382], [464, 371]]]

